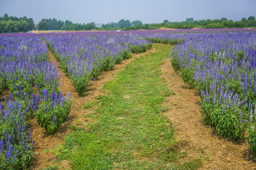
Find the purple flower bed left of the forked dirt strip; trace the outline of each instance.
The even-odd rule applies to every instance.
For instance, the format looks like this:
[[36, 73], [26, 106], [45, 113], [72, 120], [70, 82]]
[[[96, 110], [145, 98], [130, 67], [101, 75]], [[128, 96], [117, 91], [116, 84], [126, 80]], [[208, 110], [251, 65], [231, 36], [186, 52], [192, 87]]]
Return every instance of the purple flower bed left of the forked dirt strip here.
[[71, 101], [57, 88], [59, 75], [42, 37], [1, 36], [0, 169], [29, 167], [34, 142], [28, 117], [48, 133], [66, 118]]

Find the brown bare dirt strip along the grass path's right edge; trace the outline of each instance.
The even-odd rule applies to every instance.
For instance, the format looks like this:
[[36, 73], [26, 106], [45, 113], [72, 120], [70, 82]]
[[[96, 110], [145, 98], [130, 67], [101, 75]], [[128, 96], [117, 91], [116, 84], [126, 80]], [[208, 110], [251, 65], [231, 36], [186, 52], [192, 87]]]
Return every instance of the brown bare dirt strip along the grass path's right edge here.
[[[203, 124], [198, 104], [200, 97], [175, 74], [169, 59], [163, 62], [161, 69], [168, 88], [175, 92], [165, 103], [172, 108], [166, 116], [175, 127], [176, 140], [183, 144], [181, 152], [194, 158], [202, 155], [201, 170], [256, 170], [256, 158], [248, 153], [245, 141], [238, 143], [223, 139], [212, 127]], [[246, 161], [248, 159], [251, 161]]]

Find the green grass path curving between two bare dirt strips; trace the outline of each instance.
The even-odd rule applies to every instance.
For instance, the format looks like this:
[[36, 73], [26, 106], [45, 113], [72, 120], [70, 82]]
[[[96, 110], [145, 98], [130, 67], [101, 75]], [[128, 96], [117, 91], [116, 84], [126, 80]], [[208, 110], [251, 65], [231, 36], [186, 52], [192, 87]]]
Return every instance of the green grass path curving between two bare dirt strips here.
[[[159, 66], [171, 46], [154, 44], [156, 52], [135, 59], [104, 85], [89, 130], [74, 128], [65, 138], [64, 158], [75, 170], [195, 170], [201, 159], [179, 153], [174, 127], [162, 111], [169, 95]], [[103, 89], [103, 90], [104, 90]], [[92, 103], [84, 105], [90, 109]]]

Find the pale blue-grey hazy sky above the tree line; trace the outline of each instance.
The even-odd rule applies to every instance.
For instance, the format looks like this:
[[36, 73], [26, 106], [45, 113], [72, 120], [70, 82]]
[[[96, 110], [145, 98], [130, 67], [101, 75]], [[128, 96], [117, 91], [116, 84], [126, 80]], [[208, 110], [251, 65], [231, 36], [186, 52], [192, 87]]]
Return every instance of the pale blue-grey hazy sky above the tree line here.
[[198, 19], [234, 21], [256, 17], [256, 0], [0, 0], [0, 16], [56, 18], [73, 23], [109, 23], [120, 19], [162, 23]]

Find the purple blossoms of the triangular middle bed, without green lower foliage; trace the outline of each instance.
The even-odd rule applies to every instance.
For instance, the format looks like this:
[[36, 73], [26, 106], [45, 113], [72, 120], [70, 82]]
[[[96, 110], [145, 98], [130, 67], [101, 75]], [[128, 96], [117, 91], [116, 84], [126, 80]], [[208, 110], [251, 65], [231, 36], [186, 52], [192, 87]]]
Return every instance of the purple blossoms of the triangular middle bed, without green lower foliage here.
[[131, 46], [150, 43], [140, 39], [140, 36], [130, 34], [107, 36], [84, 34], [45, 37], [69, 77], [88, 75], [95, 66], [101, 67], [104, 58], [115, 61], [124, 50], [130, 51]]

